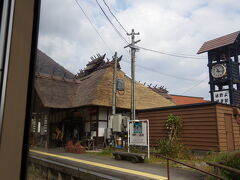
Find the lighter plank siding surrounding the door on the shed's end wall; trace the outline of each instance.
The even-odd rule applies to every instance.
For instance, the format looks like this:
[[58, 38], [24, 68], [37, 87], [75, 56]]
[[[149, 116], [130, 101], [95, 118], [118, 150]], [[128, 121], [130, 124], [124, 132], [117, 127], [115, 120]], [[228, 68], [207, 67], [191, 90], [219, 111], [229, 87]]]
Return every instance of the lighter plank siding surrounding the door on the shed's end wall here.
[[220, 151], [227, 151], [227, 130], [226, 130], [226, 122], [225, 115], [232, 116], [232, 127], [233, 127], [233, 139], [234, 139], [234, 149], [240, 149], [240, 125], [237, 124], [236, 117], [233, 115], [233, 108], [231, 106], [217, 105], [217, 124], [218, 124], [218, 134], [219, 134], [219, 145]]

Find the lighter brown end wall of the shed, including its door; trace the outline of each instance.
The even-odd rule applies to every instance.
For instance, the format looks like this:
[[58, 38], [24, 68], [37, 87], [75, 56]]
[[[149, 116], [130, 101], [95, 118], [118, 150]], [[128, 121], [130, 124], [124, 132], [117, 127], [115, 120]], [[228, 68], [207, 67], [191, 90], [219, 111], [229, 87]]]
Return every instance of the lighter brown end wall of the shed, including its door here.
[[[220, 151], [239, 150], [240, 125], [237, 124], [236, 116], [233, 114], [233, 108], [225, 105], [217, 105], [216, 107]], [[228, 123], [228, 125], [226, 125], [226, 123]], [[229, 135], [230, 138], [227, 137]], [[231, 136], [233, 138], [232, 140]]]

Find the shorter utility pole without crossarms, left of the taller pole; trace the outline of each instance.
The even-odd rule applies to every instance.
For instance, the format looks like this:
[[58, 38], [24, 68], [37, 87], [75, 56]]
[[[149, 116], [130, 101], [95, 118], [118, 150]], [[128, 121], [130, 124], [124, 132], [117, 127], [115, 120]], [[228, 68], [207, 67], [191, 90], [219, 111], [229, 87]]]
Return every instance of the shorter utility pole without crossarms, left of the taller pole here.
[[116, 82], [117, 82], [117, 52], [113, 56], [113, 91], [112, 91], [112, 114], [116, 114]]

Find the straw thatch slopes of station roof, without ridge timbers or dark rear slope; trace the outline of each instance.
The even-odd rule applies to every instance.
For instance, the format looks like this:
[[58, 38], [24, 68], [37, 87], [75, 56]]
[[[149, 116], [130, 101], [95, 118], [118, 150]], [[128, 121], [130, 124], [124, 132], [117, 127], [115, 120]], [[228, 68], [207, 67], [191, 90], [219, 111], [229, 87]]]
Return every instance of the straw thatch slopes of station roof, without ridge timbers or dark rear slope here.
[[[131, 79], [118, 70], [125, 91], [117, 94], [117, 107], [131, 108]], [[88, 105], [112, 105], [113, 67], [110, 65], [77, 80], [50, 75], [36, 76], [35, 88], [45, 107], [73, 108]], [[173, 102], [136, 82], [136, 109], [172, 106]]]

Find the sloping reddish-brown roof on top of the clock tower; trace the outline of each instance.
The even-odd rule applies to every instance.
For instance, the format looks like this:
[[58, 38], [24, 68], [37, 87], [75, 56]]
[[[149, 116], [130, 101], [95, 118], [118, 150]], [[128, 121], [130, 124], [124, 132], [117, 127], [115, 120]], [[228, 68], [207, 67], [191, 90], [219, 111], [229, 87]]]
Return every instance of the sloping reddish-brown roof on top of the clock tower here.
[[238, 38], [239, 34], [240, 34], [240, 31], [237, 31], [237, 32], [207, 41], [198, 50], [197, 54], [201, 54], [201, 53], [207, 52], [212, 49], [216, 49], [219, 47], [233, 44], [236, 41], [236, 39]]

